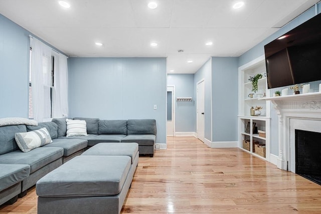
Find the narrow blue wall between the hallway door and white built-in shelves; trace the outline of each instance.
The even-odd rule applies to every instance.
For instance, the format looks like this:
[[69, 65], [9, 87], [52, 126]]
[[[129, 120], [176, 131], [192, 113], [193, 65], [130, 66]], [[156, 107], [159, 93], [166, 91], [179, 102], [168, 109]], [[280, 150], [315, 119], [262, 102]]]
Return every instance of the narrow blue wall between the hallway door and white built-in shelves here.
[[238, 58], [212, 58], [212, 113], [214, 142], [238, 141]]

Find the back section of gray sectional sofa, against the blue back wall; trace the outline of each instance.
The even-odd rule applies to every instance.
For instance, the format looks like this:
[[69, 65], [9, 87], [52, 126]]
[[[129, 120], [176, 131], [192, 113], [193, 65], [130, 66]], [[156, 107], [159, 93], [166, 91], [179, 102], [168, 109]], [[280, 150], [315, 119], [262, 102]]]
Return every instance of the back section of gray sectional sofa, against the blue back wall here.
[[139, 154], [154, 154], [156, 140], [156, 121], [154, 119], [130, 120], [99, 120], [98, 118], [75, 117], [74, 120], [85, 120], [87, 136], [66, 137], [66, 118], [55, 118], [52, 121], [58, 125], [58, 138], [84, 139], [88, 146], [101, 142], [136, 142]]

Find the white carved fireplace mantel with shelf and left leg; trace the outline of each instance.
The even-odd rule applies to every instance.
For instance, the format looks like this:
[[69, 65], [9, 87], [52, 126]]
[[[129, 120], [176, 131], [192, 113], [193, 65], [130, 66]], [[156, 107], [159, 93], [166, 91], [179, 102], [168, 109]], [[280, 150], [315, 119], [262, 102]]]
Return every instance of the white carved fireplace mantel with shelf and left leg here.
[[[319, 121], [321, 124], [321, 93], [267, 97], [259, 100], [270, 100], [278, 115], [279, 154], [277, 167], [295, 172], [295, 169], [293, 169], [293, 155], [295, 156], [295, 154], [293, 154], [293, 149], [290, 149], [291, 145], [293, 147], [294, 144], [294, 142], [290, 142], [293, 139], [293, 136], [290, 136], [291, 132], [293, 132], [290, 129], [290, 120], [300, 119], [302, 123]], [[317, 129], [320, 129], [319, 132], [321, 132], [321, 128]], [[291, 161], [291, 158], [292, 168], [289, 168], [288, 163]]]

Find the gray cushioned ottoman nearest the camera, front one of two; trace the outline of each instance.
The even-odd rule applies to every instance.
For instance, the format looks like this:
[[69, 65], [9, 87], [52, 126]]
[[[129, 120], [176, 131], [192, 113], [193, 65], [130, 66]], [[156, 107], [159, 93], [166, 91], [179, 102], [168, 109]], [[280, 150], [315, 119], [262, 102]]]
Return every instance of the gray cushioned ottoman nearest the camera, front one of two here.
[[120, 213], [130, 167], [129, 156], [74, 157], [37, 181], [38, 213]]

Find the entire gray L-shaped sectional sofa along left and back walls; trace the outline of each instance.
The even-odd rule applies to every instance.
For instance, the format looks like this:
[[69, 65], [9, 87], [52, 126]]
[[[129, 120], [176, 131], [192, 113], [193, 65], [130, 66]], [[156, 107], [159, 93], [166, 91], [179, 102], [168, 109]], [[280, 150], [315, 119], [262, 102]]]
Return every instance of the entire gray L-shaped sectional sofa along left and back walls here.
[[[18, 194], [24, 196], [41, 177], [100, 142], [136, 142], [139, 154], [153, 156], [156, 138], [154, 119], [74, 119], [86, 121], [87, 136], [66, 137], [66, 118], [55, 118], [38, 126], [0, 126], [0, 205], [7, 201], [15, 202]], [[22, 152], [16, 143], [15, 133], [43, 127], [47, 128], [53, 142]]]

